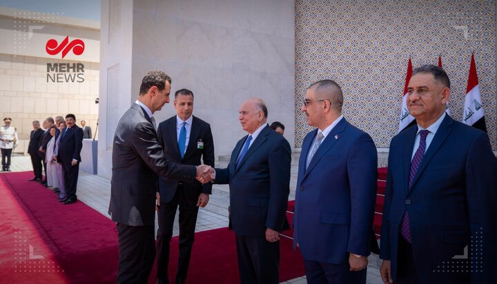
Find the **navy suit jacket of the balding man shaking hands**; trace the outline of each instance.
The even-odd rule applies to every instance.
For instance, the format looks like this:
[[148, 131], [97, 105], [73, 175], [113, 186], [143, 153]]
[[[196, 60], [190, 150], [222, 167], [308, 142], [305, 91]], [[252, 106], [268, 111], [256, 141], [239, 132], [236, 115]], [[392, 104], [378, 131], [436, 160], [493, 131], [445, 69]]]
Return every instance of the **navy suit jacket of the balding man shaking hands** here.
[[290, 144], [266, 125], [235, 167], [247, 137], [238, 141], [228, 168], [216, 169], [215, 183], [229, 183], [230, 221], [237, 234], [265, 236], [266, 228], [281, 232], [287, 222]]

